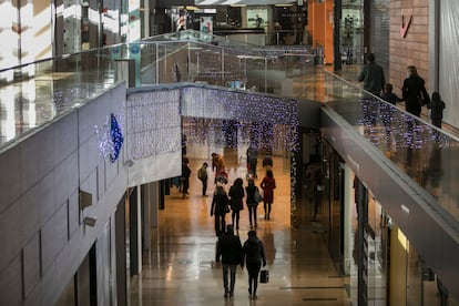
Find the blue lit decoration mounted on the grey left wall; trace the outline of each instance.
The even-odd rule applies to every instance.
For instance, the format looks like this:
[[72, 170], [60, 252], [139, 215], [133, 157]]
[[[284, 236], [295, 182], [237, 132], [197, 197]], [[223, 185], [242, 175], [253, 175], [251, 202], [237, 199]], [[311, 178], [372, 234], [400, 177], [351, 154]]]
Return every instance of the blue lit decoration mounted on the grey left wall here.
[[110, 160], [114, 163], [120, 156], [121, 147], [124, 142], [123, 133], [116, 118], [112, 113], [110, 120], [106, 118], [106, 122], [102, 128], [95, 125], [94, 129], [95, 134], [98, 135], [99, 153], [102, 159]]

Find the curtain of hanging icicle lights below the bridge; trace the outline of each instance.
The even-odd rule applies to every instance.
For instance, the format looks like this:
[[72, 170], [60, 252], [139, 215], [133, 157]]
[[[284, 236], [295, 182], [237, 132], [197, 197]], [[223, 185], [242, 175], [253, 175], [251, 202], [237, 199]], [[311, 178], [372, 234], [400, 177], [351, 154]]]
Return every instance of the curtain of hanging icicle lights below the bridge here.
[[[246, 133], [259, 149], [298, 150], [297, 101], [227, 90], [188, 86], [129, 94], [126, 101], [130, 157], [181, 150], [183, 132], [204, 142], [208, 135], [237, 145], [232, 131]], [[214, 133], [218, 131], [218, 133]]]

